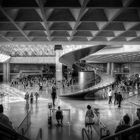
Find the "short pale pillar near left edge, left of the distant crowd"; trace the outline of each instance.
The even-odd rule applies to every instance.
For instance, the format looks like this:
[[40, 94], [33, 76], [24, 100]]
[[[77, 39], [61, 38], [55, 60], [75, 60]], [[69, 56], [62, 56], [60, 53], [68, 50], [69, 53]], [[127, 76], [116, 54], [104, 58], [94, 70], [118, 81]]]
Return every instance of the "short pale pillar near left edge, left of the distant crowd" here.
[[9, 62], [3, 63], [3, 82], [7, 83], [10, 81], [10, 64]]

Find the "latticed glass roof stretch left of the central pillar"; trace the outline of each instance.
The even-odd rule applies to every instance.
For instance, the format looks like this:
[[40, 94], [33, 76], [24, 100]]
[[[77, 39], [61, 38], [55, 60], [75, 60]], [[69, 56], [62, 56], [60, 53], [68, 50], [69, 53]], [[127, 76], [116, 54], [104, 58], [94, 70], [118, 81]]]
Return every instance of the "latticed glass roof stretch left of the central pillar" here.
[[0, 45], [0, 53], [10, 56], [51, 56], [55, 55], [52, 45], [6, 44]]

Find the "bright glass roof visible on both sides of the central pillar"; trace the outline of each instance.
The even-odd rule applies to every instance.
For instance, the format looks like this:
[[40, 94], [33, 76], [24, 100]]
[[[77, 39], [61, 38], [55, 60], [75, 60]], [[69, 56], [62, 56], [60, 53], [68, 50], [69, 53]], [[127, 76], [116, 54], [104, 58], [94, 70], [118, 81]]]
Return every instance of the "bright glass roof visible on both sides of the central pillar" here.
[[[89, 45], [64, 45], [63, 52], [67, 53]], [[0, 53], [10, 56], [54, 56], [54, 45], [47, 44], [1, 44]]]

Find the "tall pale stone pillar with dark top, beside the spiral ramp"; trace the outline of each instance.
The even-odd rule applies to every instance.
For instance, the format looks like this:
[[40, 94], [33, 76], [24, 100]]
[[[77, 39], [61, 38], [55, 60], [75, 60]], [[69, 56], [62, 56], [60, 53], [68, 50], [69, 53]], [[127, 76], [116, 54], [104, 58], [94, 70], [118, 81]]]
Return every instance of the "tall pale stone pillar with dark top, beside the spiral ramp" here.
[[56, 64], [56, 81], [62, 81], [63, 76], [62, 76], [62, 63], [59, 62], [59, 58], [62, 54], [62, 46], [61, 45], [55, 45], [55, 52], [56, 52], [56, 59], [55, 59], [55, 64]]

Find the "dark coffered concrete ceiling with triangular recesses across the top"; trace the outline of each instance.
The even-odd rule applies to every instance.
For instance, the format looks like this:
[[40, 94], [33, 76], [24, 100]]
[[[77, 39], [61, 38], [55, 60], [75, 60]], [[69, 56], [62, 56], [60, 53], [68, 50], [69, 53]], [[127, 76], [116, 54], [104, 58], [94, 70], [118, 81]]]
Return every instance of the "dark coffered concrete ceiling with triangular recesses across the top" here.
[[140, 42], [139, 0], [0, 0], [0, 42]]

